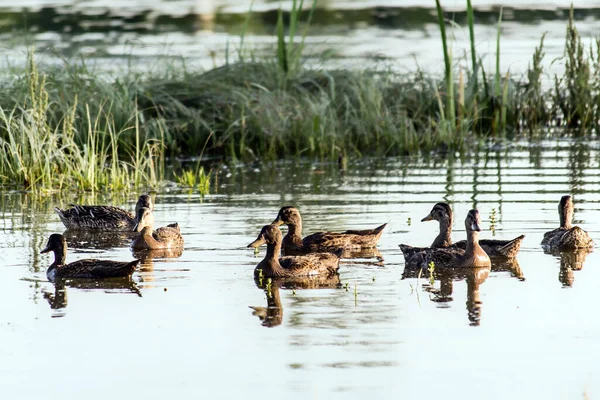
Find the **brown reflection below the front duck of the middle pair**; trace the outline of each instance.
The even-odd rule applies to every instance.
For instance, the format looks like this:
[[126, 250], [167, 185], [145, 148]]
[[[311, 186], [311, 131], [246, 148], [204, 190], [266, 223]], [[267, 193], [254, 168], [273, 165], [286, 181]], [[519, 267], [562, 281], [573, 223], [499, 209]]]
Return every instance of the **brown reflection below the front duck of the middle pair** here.
[[261, 321], [262, 326], [272, 328], [281, 325], [283, 320], [283, 305], [279, 295], [280, 288], [286, 289], [331, 289], [341, 287], [340, 277], [335, 274], [330, 277], [315, 275], [304, 278], [261, 278], [255, 277], [256, 286], [265, 291], [267, 307], [249, 306]]

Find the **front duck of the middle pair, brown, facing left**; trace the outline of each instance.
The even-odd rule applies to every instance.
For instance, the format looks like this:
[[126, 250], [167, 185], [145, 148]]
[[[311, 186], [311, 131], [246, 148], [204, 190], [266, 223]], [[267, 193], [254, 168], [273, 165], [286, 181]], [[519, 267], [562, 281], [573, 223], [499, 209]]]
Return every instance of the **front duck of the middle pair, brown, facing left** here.
[[265, 258], [254, 269], [254, 276], [265, 278], [293, 278], [314, 275], [333, 276], [340, 267], [343, 249], [336, 253], [310, 253], [303, 256], [280, 257], [283, 241], [281, 230], [275, 225], [265, 225], [248, 247], [267, 245]]

